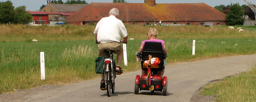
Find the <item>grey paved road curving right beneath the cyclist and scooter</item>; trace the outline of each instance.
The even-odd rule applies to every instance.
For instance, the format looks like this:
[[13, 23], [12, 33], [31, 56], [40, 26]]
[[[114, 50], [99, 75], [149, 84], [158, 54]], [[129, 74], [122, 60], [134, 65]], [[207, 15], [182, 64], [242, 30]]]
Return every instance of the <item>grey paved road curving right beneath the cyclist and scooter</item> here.
[[97, 79], [31, 93], [23, 102], [189, 102], [205, 84], [247, 71], [255, 61], [256, 55], [238, 55], [167, 66], [164, 74], [168, 77], [167, 96], [158, 91], [140, 91], [135, 95], [135, 76], [141, 73], [136, 71], [118, 75], [111, 97], [99, 89], [100, 79]]

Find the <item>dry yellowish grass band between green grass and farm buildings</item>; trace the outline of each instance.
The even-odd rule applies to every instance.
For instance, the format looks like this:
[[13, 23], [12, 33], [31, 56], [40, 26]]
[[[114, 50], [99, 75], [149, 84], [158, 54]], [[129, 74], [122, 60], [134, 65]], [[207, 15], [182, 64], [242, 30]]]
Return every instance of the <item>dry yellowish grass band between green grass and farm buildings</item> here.
[[[256, 38], [256, 27], [242, 26], [243, 32], [228, 29], [228, 26], [126, 26], [129, 38], [147, 39], [146, 33], [150, 27], [158, 30], [159, 39], [199, 39], [199, 38]], [[239, 26], [240, 27], [240, 26]], [[0, 42], [10, 41], [65, 41], [65, 40], [95, 40], [95, 26], [61, 25], [61, 26], [28, 26], [1, 25]], [[235, 28], [238, 28], [235, 26]]]

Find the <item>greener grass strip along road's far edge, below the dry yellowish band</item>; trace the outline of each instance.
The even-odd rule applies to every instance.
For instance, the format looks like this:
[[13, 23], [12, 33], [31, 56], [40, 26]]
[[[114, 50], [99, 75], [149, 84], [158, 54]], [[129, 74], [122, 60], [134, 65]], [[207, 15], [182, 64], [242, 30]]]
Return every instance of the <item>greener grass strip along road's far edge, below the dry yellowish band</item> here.
[[[224, 55], [256, 53], [255, 38], [226, 38], [196, 39], [196, 55], [192, 55], [192, 40], [164, 39], [168, 50], [167, 62], [170, 64]], [[129, 40], [128, 66], [122, 66], [125, 73], [139, 69], [135, 53], [140, 44], [141, 40]], [[99, 76], [95, 74], [97, 45], [94, 40], [0, 42], [0, 48], [0, 82], [4, 83], [0, 84], [1, 92], [28, 89], [43, 84], [79, 82]], [[40, 79], [40, 52], [45, 53], [46, 80], [43, 81]]]

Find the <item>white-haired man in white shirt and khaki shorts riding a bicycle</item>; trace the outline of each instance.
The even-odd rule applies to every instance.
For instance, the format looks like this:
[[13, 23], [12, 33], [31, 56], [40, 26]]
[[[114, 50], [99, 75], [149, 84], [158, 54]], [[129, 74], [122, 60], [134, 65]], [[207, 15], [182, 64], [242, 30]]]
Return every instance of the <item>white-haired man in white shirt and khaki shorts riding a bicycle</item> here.
[[[123, 49], [121, 44], [121, 35], [124, 38], [123, 43], [127, 43], [128, 33], [125, 25], [121, 20], [118, 19], [119, 11], [113, 8], [109, 11], [109, 16], [102, 18], [96, 25], [95, 38], [99, 48], [99, 57], [105, 57], [108, 53], [104, 52], [105, 49], [114, 50], [117, 54], [117, 63], [115, 72], [122, 73], [120, 63], [123, 57]], [[100, 89], [105, 90], [104, 75], [101, 74], [101, 85]]]

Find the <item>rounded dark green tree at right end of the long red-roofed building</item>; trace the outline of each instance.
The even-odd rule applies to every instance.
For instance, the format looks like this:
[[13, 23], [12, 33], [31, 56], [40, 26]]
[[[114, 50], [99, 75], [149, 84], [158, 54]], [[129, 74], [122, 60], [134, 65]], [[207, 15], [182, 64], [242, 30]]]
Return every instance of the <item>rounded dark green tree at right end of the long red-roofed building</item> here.
[[227, 25], [242, 25], [244, 22], [244, 18], [242, 18], [242, 16], [244, 15], [243, 8], [240, 7], [238, 3], [236, 3], [231, 4], [229, 10], [230, 11], [229, 13], [227, 13], [226, 16]]

